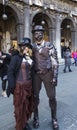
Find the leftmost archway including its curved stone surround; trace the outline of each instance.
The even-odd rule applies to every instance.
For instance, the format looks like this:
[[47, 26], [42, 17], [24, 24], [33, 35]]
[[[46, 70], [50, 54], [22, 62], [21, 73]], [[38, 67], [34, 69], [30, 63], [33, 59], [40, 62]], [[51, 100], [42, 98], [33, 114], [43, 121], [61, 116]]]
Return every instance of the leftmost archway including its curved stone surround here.
[[0, 4], [0, 49], [4, 52], [9, 52], [11, 46], [17, 47], [17, 41], [23, 35], [22, 15], [20, 15], [18, 8], [11, 3], [5, 6], [7, 19], [4, 19], [3, 14], [4, 5]]

